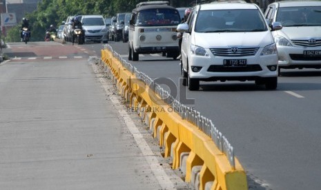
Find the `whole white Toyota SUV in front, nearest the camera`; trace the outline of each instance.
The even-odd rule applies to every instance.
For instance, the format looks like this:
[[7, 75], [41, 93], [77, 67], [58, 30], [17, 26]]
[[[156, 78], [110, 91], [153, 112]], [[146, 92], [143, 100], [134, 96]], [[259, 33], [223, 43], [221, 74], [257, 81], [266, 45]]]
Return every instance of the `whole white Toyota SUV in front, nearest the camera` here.
[[255, 81], [266, 89], [278, 85], [278, 52], [260, 8], [245, 1], [195, 6], [184, 32], [181, 70], [183, 85], [198, 90], [200, 81]]

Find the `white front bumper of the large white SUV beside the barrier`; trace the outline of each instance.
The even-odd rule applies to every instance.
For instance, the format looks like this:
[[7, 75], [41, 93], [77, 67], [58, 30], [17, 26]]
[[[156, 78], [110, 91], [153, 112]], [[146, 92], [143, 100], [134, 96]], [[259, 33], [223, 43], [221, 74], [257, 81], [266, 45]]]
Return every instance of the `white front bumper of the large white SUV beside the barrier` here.
[[[226, 67], [224, 59], [246, 59], [246, 66]], [[188, 58], [188, 67], [191, 78], [201, 81], [254, 81], [258, 78], [278, 76], [278, 56], [271, 54], [266, 56], [197, 56]], [[193, 67], [202, 67], [198, 72], [193, 72]], [[274, 70], [271, 70], [274, 67]]]

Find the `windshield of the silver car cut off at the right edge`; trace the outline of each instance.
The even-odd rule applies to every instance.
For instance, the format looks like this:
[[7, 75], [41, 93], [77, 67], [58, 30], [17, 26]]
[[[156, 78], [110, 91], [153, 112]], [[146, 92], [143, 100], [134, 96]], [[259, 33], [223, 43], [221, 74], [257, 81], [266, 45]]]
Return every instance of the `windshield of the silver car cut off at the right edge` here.
[[276, 21], [284, 27], [321, 25], [321, 7], [279, 8]]

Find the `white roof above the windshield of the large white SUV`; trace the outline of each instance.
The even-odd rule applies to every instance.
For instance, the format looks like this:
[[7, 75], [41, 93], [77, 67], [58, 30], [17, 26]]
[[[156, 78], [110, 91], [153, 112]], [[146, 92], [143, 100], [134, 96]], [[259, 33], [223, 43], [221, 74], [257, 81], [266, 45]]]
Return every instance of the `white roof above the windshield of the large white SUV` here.
[[257, 9], [253, 3], [246, 1], [214, 1], [200, 5], [200, 10], [231, 10], [231, 9]]

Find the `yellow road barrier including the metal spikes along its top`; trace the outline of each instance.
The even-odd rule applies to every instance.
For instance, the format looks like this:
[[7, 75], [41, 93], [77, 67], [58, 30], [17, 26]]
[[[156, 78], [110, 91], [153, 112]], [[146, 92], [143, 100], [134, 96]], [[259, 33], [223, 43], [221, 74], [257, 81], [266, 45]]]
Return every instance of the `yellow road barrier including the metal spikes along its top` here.
[[101, 61], [119, 94], [164, 146], [164, 157], [173, 159], [172, 168], [184, 172], [186, 182], [195, 189], [248, 189], [233, 147], [211, 120], [179, 103], [108, 44], [101, 50]]

